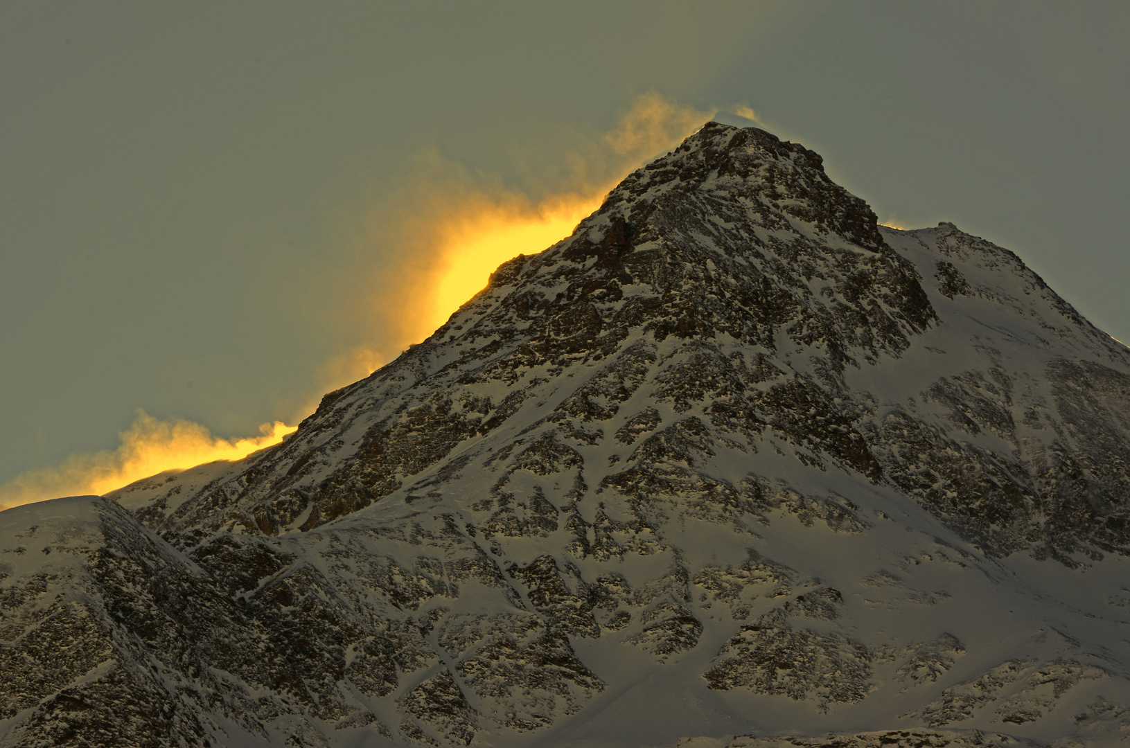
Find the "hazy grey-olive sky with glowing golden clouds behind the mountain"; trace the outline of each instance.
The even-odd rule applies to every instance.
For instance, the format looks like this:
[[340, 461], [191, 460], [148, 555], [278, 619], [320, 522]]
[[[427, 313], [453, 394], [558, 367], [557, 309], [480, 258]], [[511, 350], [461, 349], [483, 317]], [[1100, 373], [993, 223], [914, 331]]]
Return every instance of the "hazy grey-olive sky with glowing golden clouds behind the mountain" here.
[[1130, 341], [1130, 5], [0, 6], [0, 505], [278, 440], [715, 112]]

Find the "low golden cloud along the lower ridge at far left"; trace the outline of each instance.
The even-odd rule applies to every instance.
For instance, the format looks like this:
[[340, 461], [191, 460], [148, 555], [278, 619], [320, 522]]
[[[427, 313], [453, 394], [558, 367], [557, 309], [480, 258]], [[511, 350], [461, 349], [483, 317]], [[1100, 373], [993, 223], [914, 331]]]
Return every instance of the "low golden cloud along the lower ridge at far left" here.
[[0, 486], [0, 508], [58, 496], [101, 495], [165, 470], [240, 460], [278, 444], [297, 428], [277, 420], [260, 426], [260, 436], [228, 441], [212, 436], [200, 424], [180, 418], [159, 420], [139, 410], [129, 430], [120, 434], [122, 444], [116, 450], [72, 454], [58, 468], [18, 476]]

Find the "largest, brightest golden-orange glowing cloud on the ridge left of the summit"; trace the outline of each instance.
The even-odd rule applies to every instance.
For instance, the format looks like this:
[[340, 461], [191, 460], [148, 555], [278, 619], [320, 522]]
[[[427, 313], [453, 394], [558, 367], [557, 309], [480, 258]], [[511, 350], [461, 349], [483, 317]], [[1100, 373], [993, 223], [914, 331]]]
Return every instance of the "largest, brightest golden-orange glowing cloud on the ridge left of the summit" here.
[[382, 203], [362, 240], [386, 249], [370, 282], [379, 290], [367, 312], [377, 334], [360, 348], [391, 360], [419, 342], [483, 289], [499, 264], [567, 237], [627, 172], [709, 116], [658, 94], [641, 96], [611, 131], [589, 133], [560, 156], [572, 177], [539, 200], [484, 184], [436, 154], [423, 155], [421, 176]]

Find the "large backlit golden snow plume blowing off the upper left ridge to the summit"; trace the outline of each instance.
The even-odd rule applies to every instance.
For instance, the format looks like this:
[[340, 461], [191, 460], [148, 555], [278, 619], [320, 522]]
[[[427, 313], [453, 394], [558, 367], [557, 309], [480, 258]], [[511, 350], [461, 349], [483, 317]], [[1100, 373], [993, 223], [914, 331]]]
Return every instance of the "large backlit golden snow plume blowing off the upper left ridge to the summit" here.
[[436, 150], [417, 154], [410, 180], [341, 221], [349, 225], [340, 241], [351, 259], [330, 284], [337, 298], [313, 314], [354, 329], [319, 367], [316, 397], [426, 338], [506, 260], [568, 236], [625, 172], [673, 147], [709, 115], [655, 93], [640, 96], [611, 130], [573, 133], [568, 153], [555, 159], [568, 164], [566, 176], [536, 197]]

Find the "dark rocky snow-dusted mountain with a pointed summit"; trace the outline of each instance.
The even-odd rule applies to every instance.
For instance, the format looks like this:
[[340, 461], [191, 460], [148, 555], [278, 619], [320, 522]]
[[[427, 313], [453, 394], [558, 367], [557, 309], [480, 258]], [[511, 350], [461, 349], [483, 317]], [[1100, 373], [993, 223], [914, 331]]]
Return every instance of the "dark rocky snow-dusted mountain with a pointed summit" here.
[[1128, 466], [1016, 255], [711, 122], [282, 444], [0, 513], [0, 745], [1123, 745]]

